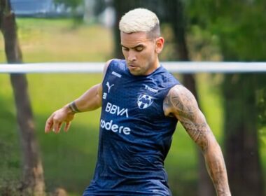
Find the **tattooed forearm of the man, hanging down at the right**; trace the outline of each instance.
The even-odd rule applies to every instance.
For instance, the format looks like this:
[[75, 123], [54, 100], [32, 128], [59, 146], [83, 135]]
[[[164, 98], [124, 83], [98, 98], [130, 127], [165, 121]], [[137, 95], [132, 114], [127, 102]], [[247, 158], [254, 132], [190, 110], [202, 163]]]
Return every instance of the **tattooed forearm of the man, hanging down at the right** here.
[[226, 172], [223, 153], [216, 141], [212, 141], [208, 148], [203, 151], [207, 171], [216, 189], [218, 196], [230, 196], [228, 176]]

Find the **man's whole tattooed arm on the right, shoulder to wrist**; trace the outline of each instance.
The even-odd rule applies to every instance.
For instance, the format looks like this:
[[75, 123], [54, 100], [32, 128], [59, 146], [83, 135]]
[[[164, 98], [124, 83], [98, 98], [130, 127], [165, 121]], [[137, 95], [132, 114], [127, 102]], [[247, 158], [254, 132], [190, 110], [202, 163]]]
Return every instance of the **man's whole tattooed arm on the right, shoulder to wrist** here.
[[200, 146], [216, 194], [230, 196], [223, 153], [193, 94], [182, 85], [172, 87], [164, 100], [164, 111], [166, 116], [175, 116]]

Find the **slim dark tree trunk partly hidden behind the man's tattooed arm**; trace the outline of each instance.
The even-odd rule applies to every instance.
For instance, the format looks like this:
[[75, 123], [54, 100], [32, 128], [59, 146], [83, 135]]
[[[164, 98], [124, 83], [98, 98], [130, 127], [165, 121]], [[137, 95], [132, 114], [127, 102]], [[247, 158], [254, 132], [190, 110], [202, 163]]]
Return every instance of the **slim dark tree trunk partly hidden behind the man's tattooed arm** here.
[[[183, 3], [180, 0], [167, 0], [165, 3], [168, 18], [174, 31], [174, 37], [176, 38], [176, 52], [179, 55], [178, 59], [181, 61], [189, 61], [190, 58], [186, 43], [186, 20], [184, 17]], [[183, 83], [194, 94], [198, 101], [194, 74], [184, 74]], [[215, 195], [214, 186], [207, 173], [204, 158], [200, 151], [198, 151], [197, 154], [199, 157], [199, 183], [197, 194], [200, 196], [213, 196]]]

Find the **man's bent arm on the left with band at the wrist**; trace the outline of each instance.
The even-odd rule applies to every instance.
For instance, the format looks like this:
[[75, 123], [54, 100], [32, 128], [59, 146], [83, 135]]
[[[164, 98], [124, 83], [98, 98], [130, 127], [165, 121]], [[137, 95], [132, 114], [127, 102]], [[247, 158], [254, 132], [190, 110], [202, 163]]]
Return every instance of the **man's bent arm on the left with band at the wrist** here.
[[[106, 62], [104, 66], [104, 76], [106, 70], [110, 64]], [[102, 106], [102, 83], [92, 86], [78, 99], [74, 100], [70, 104], [66, 104], [61, 109], [52, 113], [52, 115], [46, 120], [45, 133], [53, 132], [58, 133], [62, 127], [62, 123], [66, 123], [64, 131], [69, 130], [71, 120], [73, 120], [75, 113], [84, 111], [93, 111]]]

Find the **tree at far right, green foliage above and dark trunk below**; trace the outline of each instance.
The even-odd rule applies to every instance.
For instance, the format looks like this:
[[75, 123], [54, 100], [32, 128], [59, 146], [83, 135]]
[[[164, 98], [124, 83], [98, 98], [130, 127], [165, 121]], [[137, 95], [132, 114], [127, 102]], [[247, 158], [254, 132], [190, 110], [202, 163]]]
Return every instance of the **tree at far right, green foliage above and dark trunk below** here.
[[[223, 60], [265, 60], [265, 1], [191, 1], [189, 6], [190, 21], [220, 40]], [[232, 195], [263, 195], [256, 92], [265, 84], [265, 74], [224, 76], [225, 162]]]

